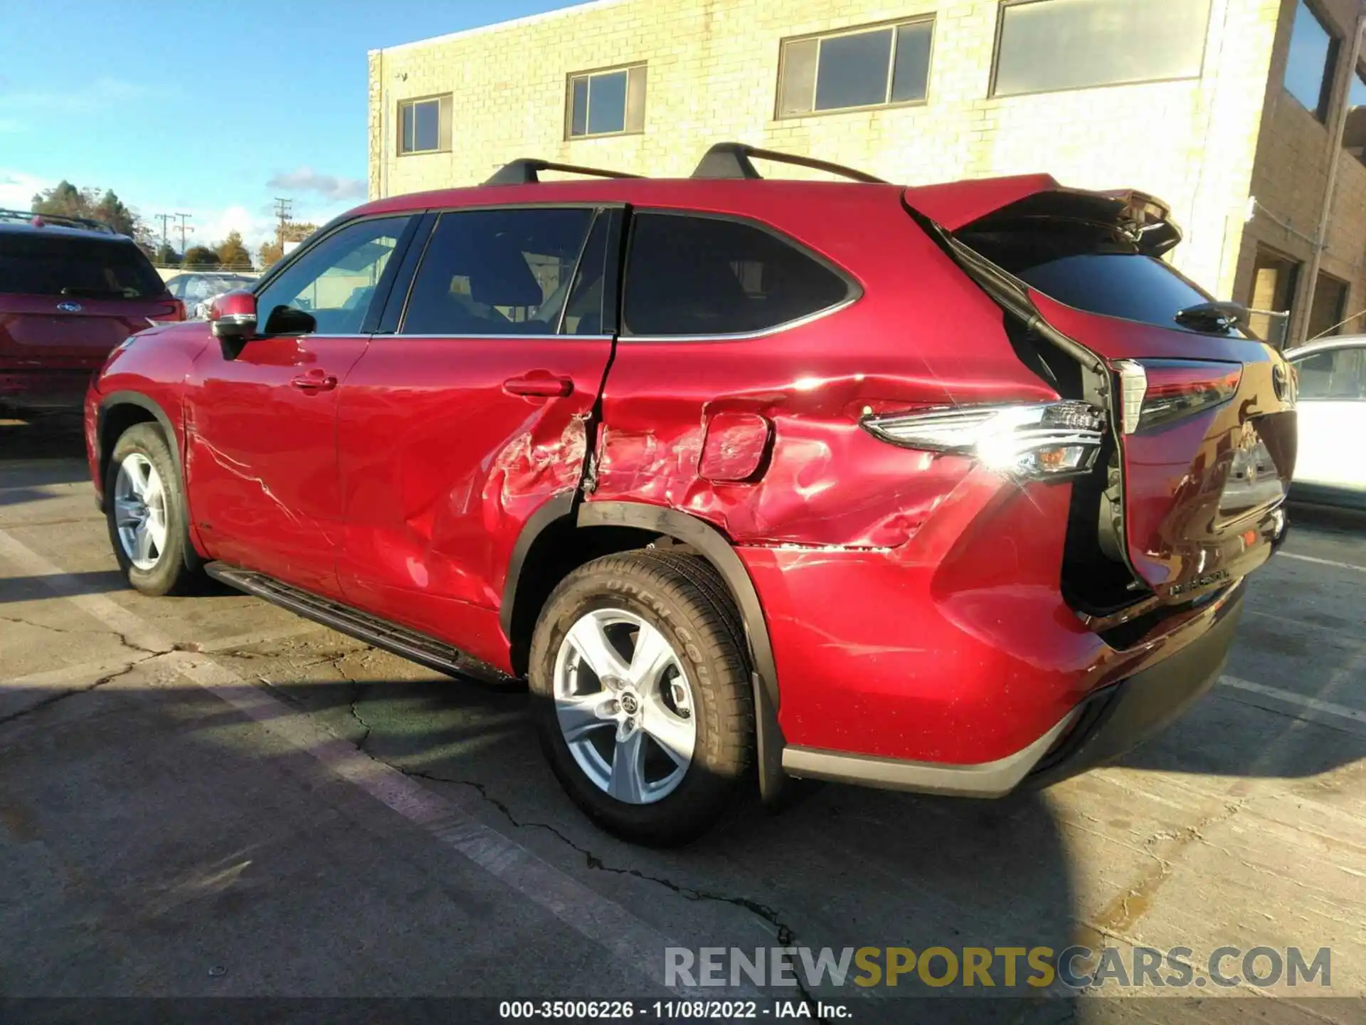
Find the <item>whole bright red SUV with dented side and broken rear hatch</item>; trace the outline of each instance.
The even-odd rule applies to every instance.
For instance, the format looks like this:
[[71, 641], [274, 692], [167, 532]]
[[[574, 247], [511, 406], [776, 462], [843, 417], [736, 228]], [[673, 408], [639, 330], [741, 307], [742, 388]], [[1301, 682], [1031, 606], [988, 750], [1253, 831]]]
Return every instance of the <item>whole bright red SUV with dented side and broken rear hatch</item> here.
[[130, 339], [90, 469], [145, 593], [525, 676], [619, 835], [790, 776], [1001, 795], [1209, 687], [1285, 532], [1294, 381], [1179, 239], [1046, 175], [515, 161]]

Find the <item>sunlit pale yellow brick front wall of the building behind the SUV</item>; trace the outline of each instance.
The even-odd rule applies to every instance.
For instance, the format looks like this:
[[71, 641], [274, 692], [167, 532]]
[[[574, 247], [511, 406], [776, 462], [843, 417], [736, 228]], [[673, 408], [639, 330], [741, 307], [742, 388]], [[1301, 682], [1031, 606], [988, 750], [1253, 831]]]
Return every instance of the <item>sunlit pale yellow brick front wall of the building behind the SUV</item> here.
[[[520, 156], [686, 175], [720, 139], [912, 184], [1046, 171], [1168, 201], [1187, 238], [1175, 262], [1228, 294], [1279, 12], [1213, 0], [1197, 79], [992, 98], [996, 0], [607, 0], [372, 53], [370, 193], [474, 184]], [[936, 16], [925, 105], [775, 118], [784, 37], [921, 14]], [[566, 141], [566, 77], [638, 60], [645, 131]], [[398, 102], [447, 90], [451, 152], [396, 156]]]

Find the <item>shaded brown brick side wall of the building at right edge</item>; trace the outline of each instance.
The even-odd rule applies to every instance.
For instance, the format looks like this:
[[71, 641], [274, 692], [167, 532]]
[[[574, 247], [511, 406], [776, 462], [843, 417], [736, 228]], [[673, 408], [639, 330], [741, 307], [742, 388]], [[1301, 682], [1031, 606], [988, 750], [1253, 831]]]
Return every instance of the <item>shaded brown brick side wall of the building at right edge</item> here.
[[[1251, 295], [1258, 245], [1299, 261], [1302, 268], [1290, 338], [1303, 340], [1313, 286], [1310, 262], [1333, 163], [1337, 164], [1337, 178], [1321, 271], [1348, 283], [1348, 313], [1366, 308], [1366, 167], [1344, 153], [1333, 135], [1339, 108], [1346, 102], [1351, 85], [1354, 68], [1348, 57], [1362, 0], [1317, 0], [1320, 12], [1341, 38], [1326, 123], [1306, 111], [1283, 86], [1295, 4], [1296, 0], [1277, 0], [1281, 14], [1277, 19], [1251, 182], [1258, 213], [1246, 227], [1233, 295], [1244, 301]], [[1355, 332], [1366, 332], [1366, 323], [1362, 320], [1348, 327]]]

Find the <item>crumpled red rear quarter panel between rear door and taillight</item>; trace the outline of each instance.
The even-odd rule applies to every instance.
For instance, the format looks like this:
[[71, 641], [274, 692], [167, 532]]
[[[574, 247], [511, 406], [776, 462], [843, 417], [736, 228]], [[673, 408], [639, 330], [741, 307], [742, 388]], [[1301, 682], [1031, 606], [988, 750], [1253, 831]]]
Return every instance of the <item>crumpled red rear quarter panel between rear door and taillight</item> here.
[[[757, 338], [623, 336], [591, 500], [678, 508], [735, 544], [902, 545], [967, 467], [872, 437], [865, 411], [1056, 392], [1019, 361], [1001, 310], [914, 224], [897, 190], [846, 191], [837, 210], [765, 202], [736, 213], [841, 266], [862, 297]], [[708, 426], [736, 413], [772, 424], [770, 452], [751, 480], [708, 480]]]

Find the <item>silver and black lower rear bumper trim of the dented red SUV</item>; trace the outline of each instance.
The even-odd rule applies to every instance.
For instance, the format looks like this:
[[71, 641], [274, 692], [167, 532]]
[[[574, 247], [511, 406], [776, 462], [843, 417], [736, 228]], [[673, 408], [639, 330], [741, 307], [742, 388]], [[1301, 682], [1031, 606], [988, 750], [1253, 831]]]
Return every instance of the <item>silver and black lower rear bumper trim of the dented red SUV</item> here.
[[790, 746], [783, 752], [783, 769], [792, 776], [956, 797], [1001, 797], [1020, 784], [1056, 783], [1113, 761], [1199, 700], [1218, 681], [1242, 604], [1239, 584], [1208, 618], [1183, 627], [1198, 633], [1194, 640], [1100, 687], [1035, 741], [1001, 758], [955, 765]]

